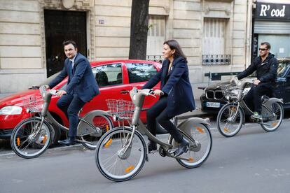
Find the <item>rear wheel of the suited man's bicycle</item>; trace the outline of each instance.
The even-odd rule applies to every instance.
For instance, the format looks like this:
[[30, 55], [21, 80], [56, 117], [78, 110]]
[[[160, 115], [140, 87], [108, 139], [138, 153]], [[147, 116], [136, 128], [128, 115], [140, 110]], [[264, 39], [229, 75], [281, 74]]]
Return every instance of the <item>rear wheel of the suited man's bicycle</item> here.
[[[88, 121], [88, 120], [85, 120], [85, 121]], [[86, 123], [85, 121], [81, 120], [81, 122], [83, 122], [82, 129], [88, 129], [93, 126], [97, 129], [101, 129], [102, 134], [113, 129], [113, 123], [111, 122], [110, 118], [106, 115], [97, 115], [93, 117], [93, 120], [90, 124]], [[81, 144], [83, 144], [85, 148], [88, 148], [90, 150], [95, 150], [97, 146], [97, 142], [99, 141], [99, 138], [101, 138], [101, 136], [99, 136], [97, 132], [94, 132], [94, 129], [89, 129], [89, 130], [91, 130], [92, 132], [89, 132], [88, 134], [80, 136], [81, 141], [83, 141], [81, 142]], [[81, 131], [81, 132], [85, 133], [85, 131]]]

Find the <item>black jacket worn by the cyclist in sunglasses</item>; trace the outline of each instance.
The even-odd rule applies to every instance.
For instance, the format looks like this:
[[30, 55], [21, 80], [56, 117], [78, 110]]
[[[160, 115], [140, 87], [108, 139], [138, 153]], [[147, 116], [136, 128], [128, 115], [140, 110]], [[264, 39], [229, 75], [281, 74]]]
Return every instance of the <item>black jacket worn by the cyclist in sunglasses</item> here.
[[275, 58], [275, 55], [269, 53], [263, 63], [261, 56], [256, 57], [247, 69], [237, 75], [237, 78], [240, 80], [256, 71], [257, 78], [261, 83], [274, 83], [277, 78], [277, 69], [277, 59]]

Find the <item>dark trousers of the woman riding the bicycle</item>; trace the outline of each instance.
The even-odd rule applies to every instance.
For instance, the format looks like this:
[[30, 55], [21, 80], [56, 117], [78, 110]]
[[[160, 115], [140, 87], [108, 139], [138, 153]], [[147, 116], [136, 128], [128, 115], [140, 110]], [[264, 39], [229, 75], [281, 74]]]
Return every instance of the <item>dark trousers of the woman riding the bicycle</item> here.
[[166, 129], [177, 143], [181, 143], [182, 135], [167, 115], [167, 97], [162, 96], [149, 110], [147, 110], [147, 128], [156, 136], [156, 122]]

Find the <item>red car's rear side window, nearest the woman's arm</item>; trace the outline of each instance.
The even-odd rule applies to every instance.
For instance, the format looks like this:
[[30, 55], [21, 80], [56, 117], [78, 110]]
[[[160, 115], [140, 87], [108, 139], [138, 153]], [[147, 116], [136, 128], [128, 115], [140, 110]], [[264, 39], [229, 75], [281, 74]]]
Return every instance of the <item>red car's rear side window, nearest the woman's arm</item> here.
[[148, 81], [157, 73], [153, 64], [127, 63], [129, 83], [140, 83]]

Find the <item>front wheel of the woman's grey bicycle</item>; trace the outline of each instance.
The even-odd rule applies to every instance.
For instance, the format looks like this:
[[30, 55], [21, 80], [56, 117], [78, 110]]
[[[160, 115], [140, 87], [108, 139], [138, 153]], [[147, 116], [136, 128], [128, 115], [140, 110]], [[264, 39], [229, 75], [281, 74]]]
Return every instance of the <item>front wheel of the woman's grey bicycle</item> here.
[[138, 131], [134, 133], [130, 150], [125, 155], [122, 154], [131, 136], [130, 127], [116, 127], [99, 140], [95, 161], [99, 171], [109, 180], [116, 182], [130, 180], [144, 166], [146, 143]]

